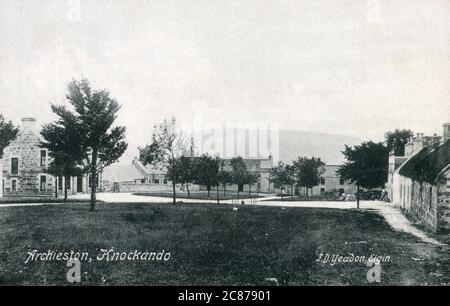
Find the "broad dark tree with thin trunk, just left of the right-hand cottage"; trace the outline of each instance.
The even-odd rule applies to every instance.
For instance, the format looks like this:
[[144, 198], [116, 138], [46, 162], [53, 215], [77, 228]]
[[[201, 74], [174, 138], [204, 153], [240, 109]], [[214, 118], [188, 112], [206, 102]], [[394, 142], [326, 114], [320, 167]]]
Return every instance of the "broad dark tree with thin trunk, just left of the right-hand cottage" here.
[[389, 149], [383, 143], [372, 141], [360, 145], [345, 146], [342, 151], [346, 163], [339, 167], [337, 173], [341, 178], [356, 184], [357, 208], [359, 208], [359, 190], [362, 188], [383, 187], [388, 176]]

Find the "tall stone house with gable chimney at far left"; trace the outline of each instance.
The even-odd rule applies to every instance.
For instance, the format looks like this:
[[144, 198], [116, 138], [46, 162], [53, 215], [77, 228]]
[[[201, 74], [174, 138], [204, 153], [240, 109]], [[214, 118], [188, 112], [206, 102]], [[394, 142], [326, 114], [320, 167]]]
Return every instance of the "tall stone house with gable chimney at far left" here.
[[[92, 182], [89, 176], [64, 178], [46, 173], [50, 158], [41, 141], [35, 118], [23, 118], [17, 138], [5, 148], [1, 160], [1, 190], [3, 197], [54, 196], [63, 193], [67, 184], [68, 193], [88, 192]], [[101, 188], [100, 188], [101, 189]]]

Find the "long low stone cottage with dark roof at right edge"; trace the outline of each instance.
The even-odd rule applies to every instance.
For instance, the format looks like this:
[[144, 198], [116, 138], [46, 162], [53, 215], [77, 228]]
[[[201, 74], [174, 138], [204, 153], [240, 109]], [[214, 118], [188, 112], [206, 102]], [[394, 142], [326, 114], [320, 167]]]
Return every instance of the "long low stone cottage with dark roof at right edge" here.
[[440, 141], [418, 135], [392, 173], [392, 203], [433, 232], [450, 230], [450, 123]]

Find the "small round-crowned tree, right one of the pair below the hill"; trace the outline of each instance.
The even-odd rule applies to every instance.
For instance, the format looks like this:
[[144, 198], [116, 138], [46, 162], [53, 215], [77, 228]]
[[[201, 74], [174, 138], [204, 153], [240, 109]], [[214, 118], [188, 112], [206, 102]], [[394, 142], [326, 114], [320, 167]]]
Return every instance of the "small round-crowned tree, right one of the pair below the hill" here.
[[320, 178], [325, 172], [325, 163], [316, 157], [299, 157], [293, 162], [296, 172], [297, 184], [306, 188], [306, 197], [309, 196], [308, 190], [319, 185]]

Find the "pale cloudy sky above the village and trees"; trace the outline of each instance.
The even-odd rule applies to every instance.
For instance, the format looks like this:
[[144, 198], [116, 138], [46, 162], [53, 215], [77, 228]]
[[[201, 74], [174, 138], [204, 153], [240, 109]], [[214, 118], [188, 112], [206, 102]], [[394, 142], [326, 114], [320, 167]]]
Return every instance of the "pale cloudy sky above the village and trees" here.
[[119, 101], [131, 148], [170, 116], [441, 134], [450, 2], [0, 0], [0, 113], [54, 120], [72, 78]]

